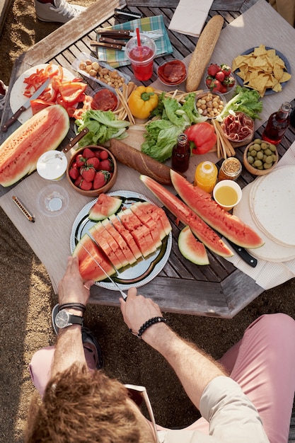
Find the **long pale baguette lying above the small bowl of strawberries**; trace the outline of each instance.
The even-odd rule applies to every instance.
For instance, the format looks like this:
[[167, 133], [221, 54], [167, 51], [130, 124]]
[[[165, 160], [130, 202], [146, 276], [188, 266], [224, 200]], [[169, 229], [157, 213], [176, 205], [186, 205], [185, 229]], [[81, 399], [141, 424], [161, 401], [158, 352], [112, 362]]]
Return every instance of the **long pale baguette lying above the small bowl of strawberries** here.
[[187, 69], [186, 91], [197, 91], [202, 81], [204, 71], [219, 39], [224, 19], [221, 16], [212, 17], [202, 30], [195, 51], [192, 52], [190, 64]]

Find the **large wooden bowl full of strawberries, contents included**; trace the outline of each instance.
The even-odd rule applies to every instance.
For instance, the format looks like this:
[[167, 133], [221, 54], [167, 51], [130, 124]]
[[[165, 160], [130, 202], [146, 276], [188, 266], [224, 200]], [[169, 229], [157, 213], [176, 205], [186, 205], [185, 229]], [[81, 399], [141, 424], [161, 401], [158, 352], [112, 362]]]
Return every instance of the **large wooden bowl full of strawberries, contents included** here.
[[66, 168], [66, 178], [74, 190], [86, 197], [108, 192], [117, 179], [117, 162], [103, 146], [77, 149]]

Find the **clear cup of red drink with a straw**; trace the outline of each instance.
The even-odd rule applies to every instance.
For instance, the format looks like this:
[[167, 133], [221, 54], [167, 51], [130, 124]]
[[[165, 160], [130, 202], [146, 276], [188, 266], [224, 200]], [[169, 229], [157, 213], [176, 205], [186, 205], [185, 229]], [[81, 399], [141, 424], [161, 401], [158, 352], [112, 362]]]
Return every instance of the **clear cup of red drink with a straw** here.
[[140, 46], [137, 36], [130, 38], [125, 46], [125, 54], [131, 62], [134, 76], [137, 80], [146, 81], [153, 75], [156, 43], [147, 35], [139, 34]]

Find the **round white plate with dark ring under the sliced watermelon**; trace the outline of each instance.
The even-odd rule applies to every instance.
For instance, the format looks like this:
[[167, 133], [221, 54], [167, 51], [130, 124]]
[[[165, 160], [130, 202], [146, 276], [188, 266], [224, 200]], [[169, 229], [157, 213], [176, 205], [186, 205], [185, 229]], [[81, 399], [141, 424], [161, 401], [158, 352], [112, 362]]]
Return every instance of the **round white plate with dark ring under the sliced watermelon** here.
[[[155, 203], [148, 197], [138, 194], [137, 192], [120, 190], [108, 192], [108, 195], [120, 197], [123, 200], [124, 207], [130, 207], [132, 203], [138, 201], [151, 202], [155, 205]], [[91, 209], [96, 201], [97, 198], [91, 200], [91, 202], [88, 202], [87, 205], [81, 209], [74, 221], [70, 237], [71, 253], [73, 253], [74, 248], [76, 247], [76, 238], [80, 240], [80, 238], [86, 234], [86, 232], [88, 232], [88, 230], [91, 229], [94, 224], [96, 224], [96, 222], [93, 222], [88, 218], [89, 209]], [[120, 210], [121, 209], [119, 209], [118, 212], [120, 212]], [[118, 270], [116, 275], [111, 276], [112, 280], [114, 280], [114, 282], [116, 282], [123, 290], [127, 290], [130, 287], [141, 287], [144, 284], [151, 282], [151, 280], [153, 280], [166, 265], [171, 247], [172, 234], [170, 233], [166, 238], [163, 239], [161, 248], [158, 248], [154, 253], [149, 255], [149, 257], [137, 260], [134, 265], [125, 267], [122, 269], [122, 271]], [[115, 287], [115, 285], [112, 284], [112, 282], [109, 282], [107, 279], [103, 280], [102, 282], [96, 282], [95, 284], [97, 286], [104, 287], [105, 289], [117, 291], [117, 287]]]

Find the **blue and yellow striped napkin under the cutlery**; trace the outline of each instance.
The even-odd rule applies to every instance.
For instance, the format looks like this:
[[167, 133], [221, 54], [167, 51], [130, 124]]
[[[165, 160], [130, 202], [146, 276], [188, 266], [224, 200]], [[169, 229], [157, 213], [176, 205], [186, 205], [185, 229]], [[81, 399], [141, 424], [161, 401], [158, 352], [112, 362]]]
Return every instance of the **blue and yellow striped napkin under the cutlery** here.
[[[163, 16], [152, 16], [152, 17], [144, 17], [137, 18], [132, 21], [127, 21], [125, 23], [121, 23], [119, 25], [114, 25], [110, 27], [110, 29], [131, 29], [136, 30], [156, 30], [160, 29], [163, 37], [155, 40], [156, 43], [156, 57], [160, 57], [166, 54], [171, 54], [173, 52], [173, 47], [168, 38], [168, 33], [166, 27], [164, 25]], [[107, 29], [107, 28], [104, 28]], [[99, 38], [99, 36], [98, 36]], [[127, 59], [125, 55], [125, 51], [114, 51], [105, 49], [104, 47], [97, 47], [98, 59], [101, 62], [107, 62], [111, 67], [117, 68], [120, 66], [125, 66], [130, 64], [129, 59]]]

